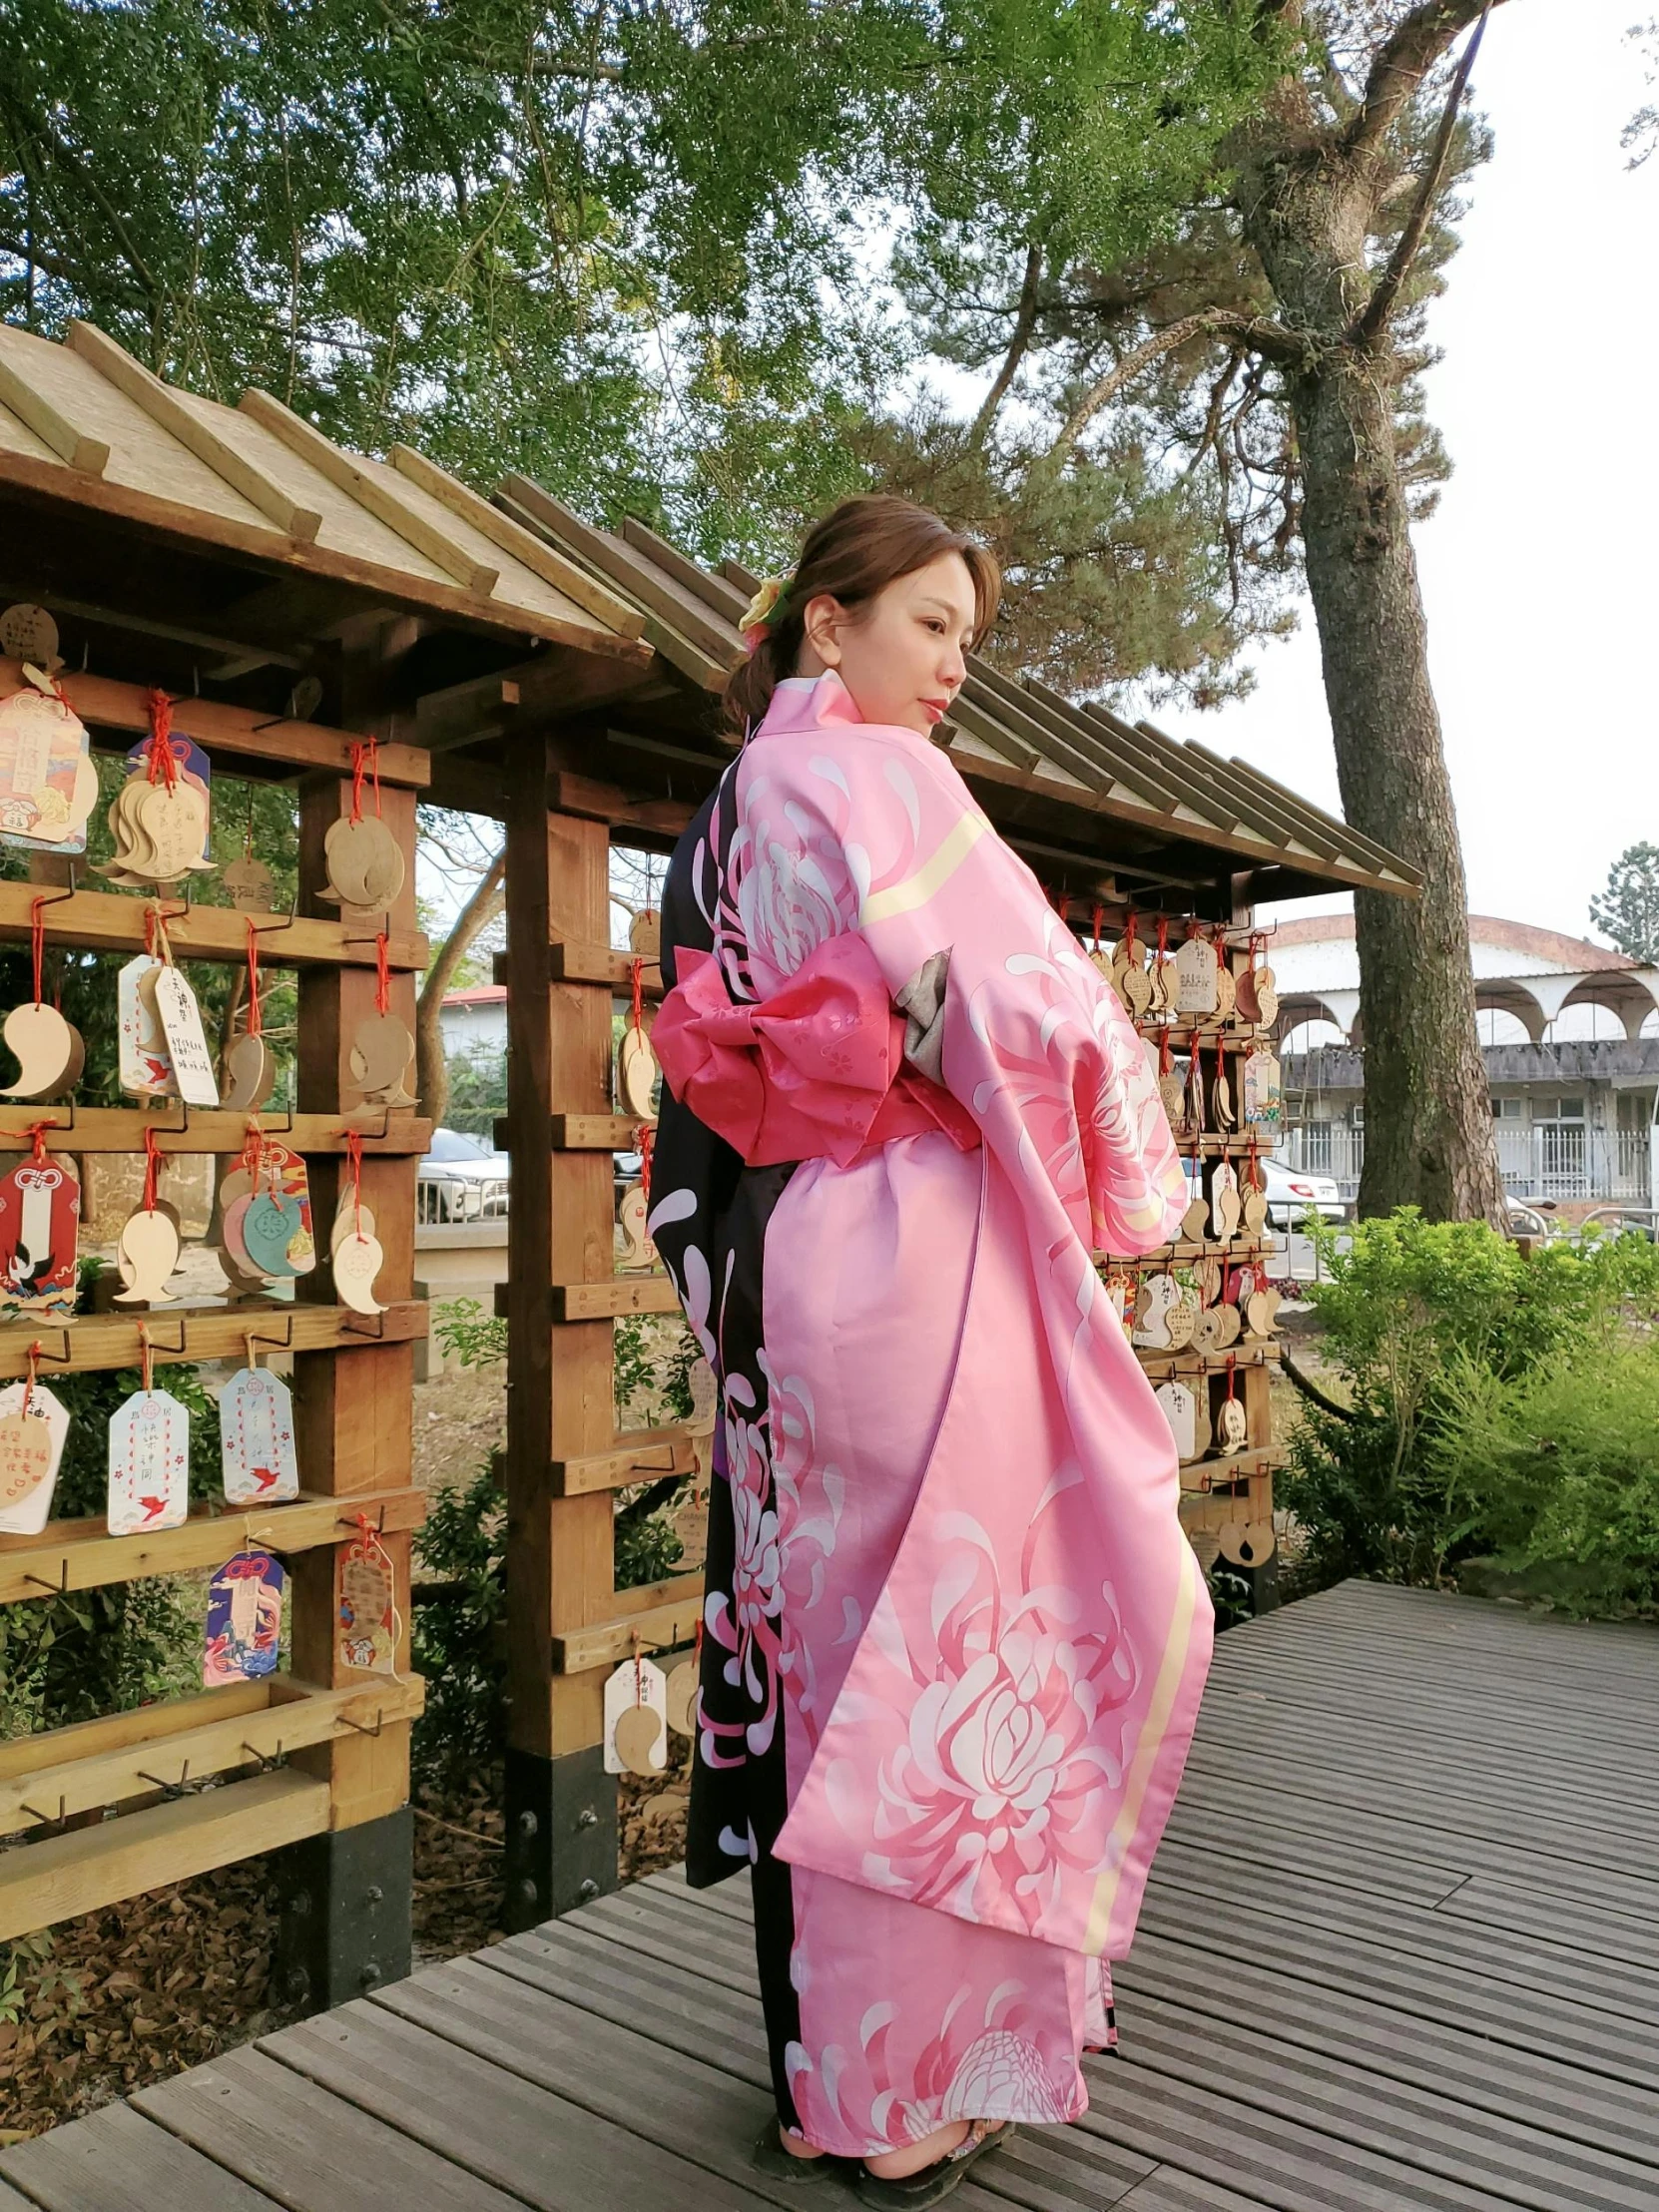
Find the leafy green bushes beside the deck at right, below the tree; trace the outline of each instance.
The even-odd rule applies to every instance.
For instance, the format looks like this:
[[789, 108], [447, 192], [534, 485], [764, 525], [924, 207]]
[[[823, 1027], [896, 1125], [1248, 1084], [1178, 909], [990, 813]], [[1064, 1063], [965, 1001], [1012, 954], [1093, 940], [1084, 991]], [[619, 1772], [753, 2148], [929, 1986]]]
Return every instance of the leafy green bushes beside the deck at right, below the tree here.
[[1495, 1555], [1564, 1604], [1652, 1604], [1659, 1248], [1524, 1259], [1411, 1208], [1356, 1223], [1347, 1252], [1318, 1234], [1307, 1296], [1347, 1409], [1303, 1407], [1281, 1482], [1316, 1573], [1444, 1584]]

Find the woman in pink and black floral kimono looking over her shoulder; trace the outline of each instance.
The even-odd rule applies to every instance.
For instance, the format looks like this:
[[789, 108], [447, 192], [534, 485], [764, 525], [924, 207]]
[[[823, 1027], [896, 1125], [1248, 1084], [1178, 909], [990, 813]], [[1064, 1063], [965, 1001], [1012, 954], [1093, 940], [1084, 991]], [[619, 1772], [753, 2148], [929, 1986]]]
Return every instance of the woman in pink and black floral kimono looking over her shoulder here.
[[1091, 1252], [1188, 1203], [1121, 1006], [929, 732], [991, 557], [841, 507], [675, 854], [650, 1228], [721, 1389], [688, 1880], [752, 1869], [776, 2130], [872, 2205], [1086, 2108], [1210, 1601]]

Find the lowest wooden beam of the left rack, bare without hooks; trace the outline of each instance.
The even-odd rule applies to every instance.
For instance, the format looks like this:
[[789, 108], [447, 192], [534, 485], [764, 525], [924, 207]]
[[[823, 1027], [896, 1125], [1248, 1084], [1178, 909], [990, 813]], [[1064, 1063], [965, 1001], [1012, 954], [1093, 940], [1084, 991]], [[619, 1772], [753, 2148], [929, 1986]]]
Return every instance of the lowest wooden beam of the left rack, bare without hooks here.
[[327, 1825], [327, 1783], [283, 1767], [49, 1836], [2, 1860], [0, 1942], [321, 1836]]

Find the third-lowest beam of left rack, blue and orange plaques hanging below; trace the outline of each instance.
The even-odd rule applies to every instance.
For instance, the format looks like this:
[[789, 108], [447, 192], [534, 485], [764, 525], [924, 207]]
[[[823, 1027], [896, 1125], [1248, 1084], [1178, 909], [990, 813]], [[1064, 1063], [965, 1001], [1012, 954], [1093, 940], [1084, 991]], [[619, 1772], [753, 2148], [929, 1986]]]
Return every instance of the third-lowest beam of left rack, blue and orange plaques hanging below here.
[[[42, 1367], [42, 1378], [49, 1369]], [[363, 1495], [301, 1495], [283, 1506], [248, 1506], [210, 1513], [199, 1509], [179, 1528], [148, 1535], [111, 1535], [104, 1517], [46, 1522], [40, 1535], [0, 1535], [0, 1606], [69, 1590], [102, 1590], [111, 1582], [148, 1582], [150, 1575], [188, 1575], [219, 1566], [246, 1544], [263, 1544], [283, 1557], [343, 1544], [356, 1533], [356, 1515], [369, 1524], [385, 1520], [385, 1533], [418, 1528], [427, 1517], [427, 1493], [416, 1489]]]

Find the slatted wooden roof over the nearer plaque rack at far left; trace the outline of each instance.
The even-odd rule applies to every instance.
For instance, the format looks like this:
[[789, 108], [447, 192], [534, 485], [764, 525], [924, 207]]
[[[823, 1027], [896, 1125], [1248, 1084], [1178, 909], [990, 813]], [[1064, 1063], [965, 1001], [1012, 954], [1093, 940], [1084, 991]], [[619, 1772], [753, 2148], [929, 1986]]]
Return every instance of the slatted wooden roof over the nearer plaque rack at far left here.
[[[88, 323], [71, 323], [64, 345], [0, 325], [0, 489], [58, 515], [66, 507], [80, 540], [102, 520], [173, 549], [296, 573], [312, 586], [296, 599], [312, 630], [392, 606], [650, 659], [630, 599], [425, 456], [347, 453], [263, 392], [246, 392], [237, 407], [184, 392]], [[27, 557], [46, 582], [55, 568], [73, 575], [73, 560], [55, 555], [62, 540], [60, 531], [40, 549], [13, 546], [11, 564]], [[40, 597], [51, 604], [46, 591]], [[60, 604], [84, 613], [69, 597]]]

